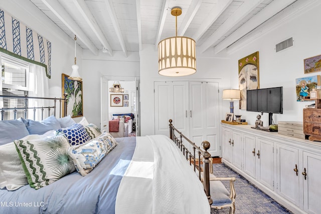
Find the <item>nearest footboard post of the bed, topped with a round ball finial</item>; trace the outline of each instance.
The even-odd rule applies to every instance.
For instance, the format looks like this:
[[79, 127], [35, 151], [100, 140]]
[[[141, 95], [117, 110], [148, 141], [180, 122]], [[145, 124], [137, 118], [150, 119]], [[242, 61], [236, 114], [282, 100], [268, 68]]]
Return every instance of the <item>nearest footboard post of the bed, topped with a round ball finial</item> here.
[[203, 154], [204, 190], [207, 195], [207, 199], [209, 200], [209, 203], [212, 204], [213, 199], [211, 198], [211, 193], [210, 193], [210, 171], [209, 171], [209, 163], [210, 163], [209, 158], [211, 157], [211, 154], [207, 151], [210, 148], [211, 144], [209, 141], [204, 140], [201, 145], [202, 145], [202, 148], [205, 149], [205, 152]]

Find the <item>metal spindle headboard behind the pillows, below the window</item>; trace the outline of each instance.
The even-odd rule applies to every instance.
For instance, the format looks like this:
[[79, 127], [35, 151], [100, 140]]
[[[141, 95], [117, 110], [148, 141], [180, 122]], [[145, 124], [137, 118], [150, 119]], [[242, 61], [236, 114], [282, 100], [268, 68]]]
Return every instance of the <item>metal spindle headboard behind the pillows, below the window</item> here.
[[[44, 119], [44, 111], [47, 109], [48, 111], [48, 117], [50, 116], [51, 109], [54, 110], [54, 116], [56, 116], [56, 108], [57, 108], [57, 100], [59, 101], [59, 117], [62, 117], [63, 115], [67, 115], [67, 94], [64, 94], [65, 98], [50, 98], [50, 97], [28, 97], [28, 96], [11, 96], [11, 95], [0, 95], [0, 98], [9, 98], [9, 99], [24, 99], [24, 107], [14, 107], [14, 108], [1, 108], [0, 114], [1, 114], [1, 120], [4, 120], [5, 112], [13, 110], [14, 113], [14, 120], [17, 119], [17, 113], [18, 110], [24, 110], [24, 118], [27, 119], [27, 112], [28, 109], [32, 109], [34, 112], [33, 119], [36, 118], [36, 110], [40, 109], [41, 111], [41, 120]], [[49, 106], [42, 106], [42, 107], [31, 107], [28, 106], [28, 101], [30, 99], [40, 99], [40, 100], [52, 100], [53, 105]], [[62, 114], [64, 113], [64, 114]]]

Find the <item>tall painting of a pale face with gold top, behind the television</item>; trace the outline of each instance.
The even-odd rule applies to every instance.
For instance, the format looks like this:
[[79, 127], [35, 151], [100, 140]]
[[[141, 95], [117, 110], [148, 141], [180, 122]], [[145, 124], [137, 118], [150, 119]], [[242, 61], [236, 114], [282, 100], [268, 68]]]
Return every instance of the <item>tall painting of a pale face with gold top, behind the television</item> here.
[[246, 91], [260, 88], [259, 52], [239, 60], [239, 90], [241, 91], [240, 109], [246, 109]]

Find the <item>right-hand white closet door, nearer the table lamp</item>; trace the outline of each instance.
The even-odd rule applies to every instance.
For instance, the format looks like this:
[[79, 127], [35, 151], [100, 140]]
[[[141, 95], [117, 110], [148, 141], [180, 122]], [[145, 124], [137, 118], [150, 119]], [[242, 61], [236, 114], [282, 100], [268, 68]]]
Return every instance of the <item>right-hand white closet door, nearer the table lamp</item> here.
[[190, 138], [198, 146], [211, 143], [211, 156], [220, 156], [217, 82], [190, 82]]

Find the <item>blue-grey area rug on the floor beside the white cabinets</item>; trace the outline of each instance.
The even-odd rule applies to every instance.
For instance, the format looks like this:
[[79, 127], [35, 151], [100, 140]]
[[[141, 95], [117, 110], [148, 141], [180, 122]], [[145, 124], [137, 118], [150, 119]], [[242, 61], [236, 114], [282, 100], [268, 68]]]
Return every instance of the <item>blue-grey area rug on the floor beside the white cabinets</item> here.
[[[213, 164], [213, 174], [217, 177], [236, 178], [236, 181], [234, 181], [236, 192], [235, 213], [292, 213], [224, 163]], [[223, 183], [229, 189], [229, 182], [223, 181]], [[212, 208], [211, 213], [229, 213], [229, 210], [229, 207]]]

